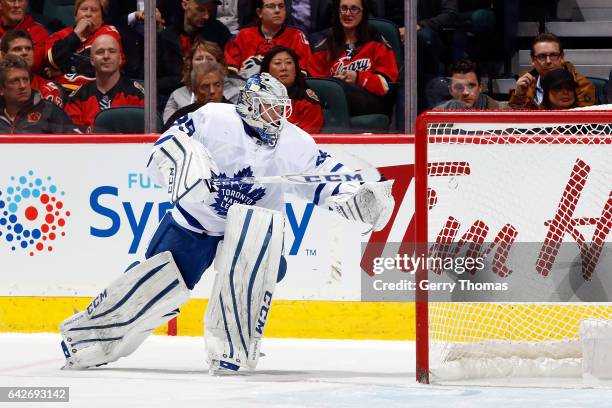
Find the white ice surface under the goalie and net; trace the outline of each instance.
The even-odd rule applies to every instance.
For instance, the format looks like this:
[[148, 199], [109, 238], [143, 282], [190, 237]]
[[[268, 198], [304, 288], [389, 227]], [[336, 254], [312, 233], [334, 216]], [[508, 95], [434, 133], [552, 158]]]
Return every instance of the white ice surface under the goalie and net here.
[[256, 372], [213, 377], [202, 338], [153, 336], [112, 365], [63, 371], [59, 335], [2, 334], [0, 386], [70, 387], [69, 403], [15, 407], [612, 407], [609, 389], [562, 388], [579, 380], [419, 385], [411, 342], [265, 339], [262, 352]]

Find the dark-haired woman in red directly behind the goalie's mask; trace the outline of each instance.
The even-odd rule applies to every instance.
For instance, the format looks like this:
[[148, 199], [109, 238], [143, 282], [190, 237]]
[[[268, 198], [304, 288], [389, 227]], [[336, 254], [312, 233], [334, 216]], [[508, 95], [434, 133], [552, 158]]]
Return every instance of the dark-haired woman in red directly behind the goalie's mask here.
[[317, 94], [308, 87], [300, 71], [299, 57], [291, 48], [278, 46], [265, 55], [261, 72], [268, 72], [285, 85], [291, 98], [289, 122], [313, 134], [323, 127], [323, 109]]

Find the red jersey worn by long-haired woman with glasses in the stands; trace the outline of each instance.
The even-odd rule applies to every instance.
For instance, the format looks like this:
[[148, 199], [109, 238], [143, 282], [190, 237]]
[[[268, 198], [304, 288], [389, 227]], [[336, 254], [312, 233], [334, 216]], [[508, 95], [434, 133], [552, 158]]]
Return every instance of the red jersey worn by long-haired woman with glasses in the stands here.
[[357, 85], [375, 95], [385, 95], [389, 91], [389, 84], [397, 81], [398, 70], [393, 50], [383, 37], [377, 38], [354, 48], [347, 47], [335, 59], [328, 47], [328, 40], [322, 40], [313, 53], [311, 74], [315, 77], [333, 77], [344, 71], [356, 71]]

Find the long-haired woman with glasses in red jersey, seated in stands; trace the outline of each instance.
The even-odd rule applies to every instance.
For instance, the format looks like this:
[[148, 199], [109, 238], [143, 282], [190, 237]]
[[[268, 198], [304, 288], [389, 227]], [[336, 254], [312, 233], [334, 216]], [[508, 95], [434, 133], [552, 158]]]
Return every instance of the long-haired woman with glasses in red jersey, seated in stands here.
[[387, 41], [368, 28], [367, 0], [336, 0], [331, 34], [315, 46], [313, 75], [342, 81], [351, 115], [385, 113], [384, 96], [397, 81], [395, 55]]

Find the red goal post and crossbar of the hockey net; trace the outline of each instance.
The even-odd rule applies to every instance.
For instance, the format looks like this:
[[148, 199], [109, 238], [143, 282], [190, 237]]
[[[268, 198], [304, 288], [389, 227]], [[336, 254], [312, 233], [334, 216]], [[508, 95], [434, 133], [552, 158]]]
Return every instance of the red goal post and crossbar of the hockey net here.
[[[451, 129], [453, 125], [474, 125], [469, 134], [461, 132], [434, 131], [441, 128]], [[584, 124], [607, 126], [604, 134], [572, 134], [574, 127]], [[428, 242], [431, 241], [428, 231], [428, 148], [431, 144], [602, 144], [612, 145], [611, 111], [575, 110], [575, 111], [431, 111], [419, 116], [415, 131], [415, 255], [427, 257]], [[495, 131], [479, 131], [491, 125]], [[484, 127], [483, 127], [484, 126]], [[513, 134], [512, 130], [502, 129], [536, 129], [532, 134]], [[555, 128], [547, 132], [545, 128]], [[610, 186], [612, 187], [612, 186]], [[415, 314], [416, 314], [416, 379], [421, 383], [430, 382], [430, 302], [427, 290], [421, 289], [419, 282], [428, 279], [428, 270], [417, 268], [415, 280]]]

